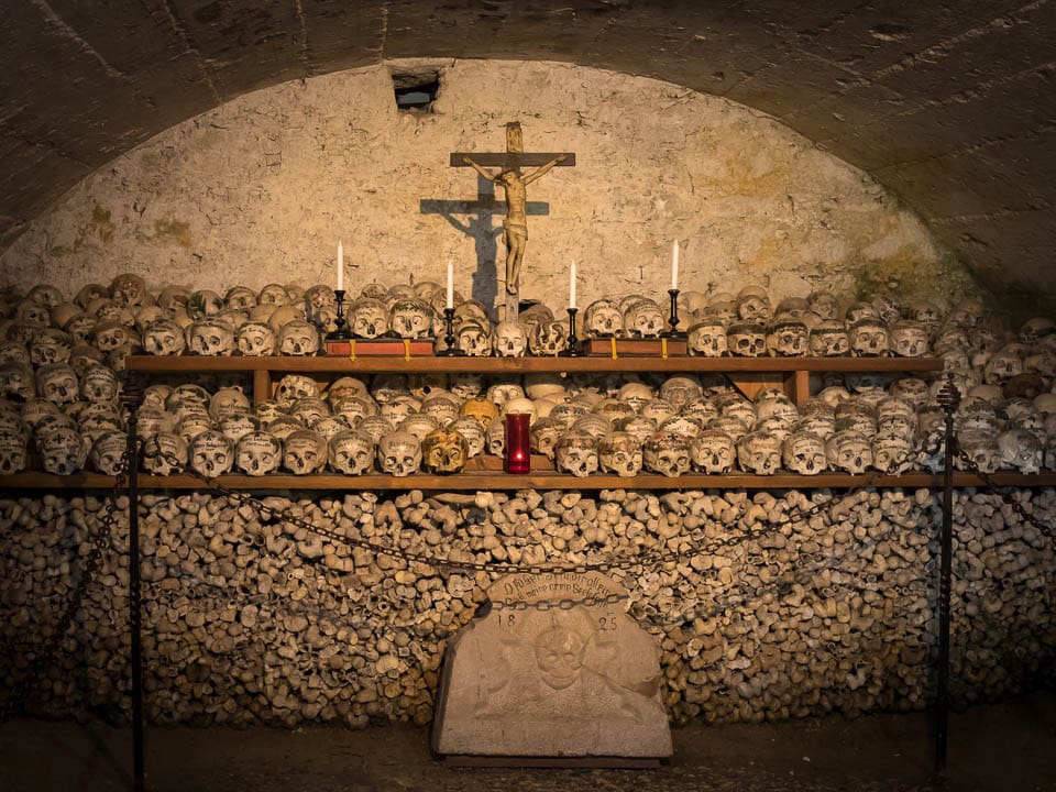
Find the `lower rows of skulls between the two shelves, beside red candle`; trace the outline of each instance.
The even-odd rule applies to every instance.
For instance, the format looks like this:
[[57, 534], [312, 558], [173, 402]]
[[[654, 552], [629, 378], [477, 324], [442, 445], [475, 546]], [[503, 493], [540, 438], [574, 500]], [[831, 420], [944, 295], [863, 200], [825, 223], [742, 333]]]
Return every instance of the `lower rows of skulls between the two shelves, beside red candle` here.
[[[898, 474], [938, 470], [941, 447], [925, 440], [941, 431], [944, 414], [934, 397], [943, 382], [847, 375], [796, 406], [773, 388], [749, 400], [718, 376], [673, 376], [657, 385], [538, 374], [522, 384], [488, 385], [477, 374], [394, 374], [376, 375], [371, 388], [341, 377], [321, 391], [315, 380], [290, 374], [273, 399], [256, 405], [234, 385], [212, 392], [197, 383], [152, 385], [138, 427], [146, 441], [144, 468], [160, 475], [185, 464], [206, 476], [328, 468], [348, 475], [454, 473], [472, 457], [503, 454], [508, 413], [529, 415], [534, 452], [580, 476], [632, 476], [642, 469], [667, 476]], [[38, 396], [8, 394], [0, 402], [0, 472], [24, 469], [32, 446], [51, 473], [74, 473], [86, 461], [118, 473], [128, 438], [117, 375], [95, 365], [81, 383], [58, 387], [47, 376], [41, 383]], [[976, 385], [956, 429], [985, 471], [1056, 468], [1056, 394], [1028, 399]]]

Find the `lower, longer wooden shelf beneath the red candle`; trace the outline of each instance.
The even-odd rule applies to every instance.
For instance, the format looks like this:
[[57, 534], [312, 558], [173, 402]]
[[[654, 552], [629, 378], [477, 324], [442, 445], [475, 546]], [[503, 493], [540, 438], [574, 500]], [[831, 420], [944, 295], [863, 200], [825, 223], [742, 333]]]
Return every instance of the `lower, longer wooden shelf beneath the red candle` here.
[[[994, 473], [991, 476], [998, 486], [1038, 487], [1056, 486], [1056, 472], [1024, 475], [1022, 473]], [[0, 490], [109, 490], [113, 486], [113, 476], [100, 473], [76, 473], [57, 476], [51, 473], [24, 471], [13, 475], [0, 476]], [[527, 475], [508, 475], [501, 471], [477, 471], [459, 475], [414, 475], [396, 479], [389, 475], [223, 475], [217, 482], [232, 490], [354, 490], [354, 491], [406, 491], [429, 490], [442, 492], [477, 490], [847, 490], [866, 484], [879, 488], [890, 487], [941, 487], [942, 475], [931, 473], [906, 473], [895, 476], [870, 479], [864, 475], [843, 473], [823, 473], [815, 476], [777, 474], [757, 475], [697, 475], [690, 474], [678, 479], [654, 474], [642, 474], [632, 479], [615, 475], [592, 475], [585, 479], [539, 471]], [[954, 486], [986, 486], [981, 479], [970, 473], [956, 473]], [[144, 490], [206, 490], [200, 480], [188, 475], [154, 476], [140, 475], [140, 487]]]

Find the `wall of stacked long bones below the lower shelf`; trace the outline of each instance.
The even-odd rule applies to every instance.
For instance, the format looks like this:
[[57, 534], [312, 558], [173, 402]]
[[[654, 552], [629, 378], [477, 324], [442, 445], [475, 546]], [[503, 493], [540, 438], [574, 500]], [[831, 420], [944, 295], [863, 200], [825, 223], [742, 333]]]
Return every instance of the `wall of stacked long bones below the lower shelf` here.
[[[1015, 497], [1030, 521], [993, 494], [955, 499], [958, 703], [1053, 681], [1056, 492]], [[143, 496], [152, 722], [427, 723], [446, 641], [494, 576], [440, 573], [399, 551], [582, 563], [679, 550], [680, 562], [613, 572], [661, 644], [675, 723], [854, 716], [930, 701], [941, 512], [926, 490], [292, 493], [263, 504]], [[116, 721], [130, 712], [122, 514], [69, 637], [54, 661], [34, 666], [101, 514], [97, 495], [0, 501], [0, 688], [24, 689], [32, 712]], [[320, 539], [304, 524], [397, 556]]]

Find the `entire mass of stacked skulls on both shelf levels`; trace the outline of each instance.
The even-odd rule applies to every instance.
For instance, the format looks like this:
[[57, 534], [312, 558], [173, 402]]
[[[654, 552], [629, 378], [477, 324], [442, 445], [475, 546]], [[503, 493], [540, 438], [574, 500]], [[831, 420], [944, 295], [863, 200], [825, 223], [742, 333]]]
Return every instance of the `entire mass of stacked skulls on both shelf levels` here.
[[[323, 286], [300, 292], [276, 285], [260, 294], [234, 287], [223, 298], [179, 288], [154, 296], [130, 275], [119, 276], [109, 288], [85, 287], [74, 302], [51, 286], [9, 299], [10, 318], [3, 320], [0, 343], [0, 473], [25, 469], [31, 451], [52, 473], [69, 474], [86, 462], [113, 472], [124, 446], [114, 372], [128, 353], [142, 344], [155, 353], [190, 349], [255, 354], [274, 352], [277, 343], [279, 350], [308, 354], [328, 327], [330, 299], [332, 293]], [[415, 311], [437, 299], [433, 284], [388, 290], [370, 285], [353, 305], [367, 301], [377, 318], [358, 332], [418, 332], [421, 321]], [[653, 321], [658, 315], [649, 302], [638, 297], [622, 305], [597, 300], [586, 311], [586, 330], [639, 336], [659, 331], [662, 322]], [[698, 353], [716, 353], [719, 337], [727, 350], [733, 342], [745, 354], [766, 349], [882, 354], [892, 339], [904, 354], [934, 349], [967, 394], [957, 428], [963, 449], [976, 464], [988, 472], [1056, 466], [1056, 396], [1049, 391], [1056, 372], [1056, 323], [1049, 319], [1032, 319], [1011, 333], [976, 302], [943, 315], [930, 304], [900, 306], [883, 297], [849, 306], [840, 322], [823, 318], [839, 312], [825, 293], [783, 300], [771, 311], [767, 296], [750, 288], [711, 300], [688, 293], [685, 302], [691, 343]], [[384, 322], [376, 304], [387, 308]], [[551, 351], [553, 344], [538, 345], [557, 332], [547, 334], [539, 327], [560, 324], [547, 319], [548, 314], [544, 306], [536, 306], [522, 312], [521, 322], [493, 330], [483, 307], [461, 301], [460, 343], [462, 329], [476, 328], [483, 336], [471, 333], [477, 346], [468, 344], [470, 351], [484, 349], [481, 338], [499, 354], [524, 353], [526, 346], [534, 348], [532, 339], [535, 349]], [[435, 317], [435, 311], [426, 316]], [[652, 320], [642, 319], [648, 316]], [[361, 318], [353, 315], [353, 327]], [[513, 332], [521, 324], [529, 329]], [[805, 337], [795, 329], [800, 324], [807, 328]], [[707, 336], [707, 328], [718, 326], [723, 333]], [[755, 326], [749, 328], [754, 340], [741, 344], [745, 326]], [[765, 329], [762, 346], [758, 327]], [[900, 330], [912, 330], [910, 336], [920, 343], [905, 345]], [[268, 333], [268, 343], [246, 346], [251, 338], [266, 340]], [[711, 345], [703, 343], [705, 337]], [[796, 338], [805, 338], [806, 346]], [[815, 349], [820, 340], [825, 345]], [[502, 453], [501, 419], [507, 411], [529, 413], [536, 452], [575, 475], [598, 470], [634, 475], [642, 468], [670, 476], [691, 470], [898, 473], [937, 463], [936, 455], [922, 448], [942, 417], [934, 403], [938, 383], [914, 377], [834, 377], [799, 407], [771, 391], [750, 403], [721, 378], [536, 376], [491, 387], [476, 375], [422, 382], [378, 376], [367, 387], [345, 378], [320, 394], [307, 377], [290, 376], [280, 383], [274, 403], [255, 408], [239, 387], [216, 381], [205, 383], [208, 389], [202, 383], [185, 383], [172, 392], [153, 388], [141, 414], [141, 432], [151, 440], [145, 465], [167, 473], [174, 460], [186, 460], [205, 475], [312, 473], [328, 466], [346, 474], [380, 470], [409, 475], [422, 466], [453, 472], [470, 457]]]

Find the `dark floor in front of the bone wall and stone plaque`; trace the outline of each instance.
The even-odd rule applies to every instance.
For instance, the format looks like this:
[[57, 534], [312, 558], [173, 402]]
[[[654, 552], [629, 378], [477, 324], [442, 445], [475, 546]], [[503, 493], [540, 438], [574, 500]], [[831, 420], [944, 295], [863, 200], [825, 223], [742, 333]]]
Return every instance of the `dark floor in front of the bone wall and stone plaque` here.
[[[675, 757], [657, 770], [451, 768], [409, 727], [231, 730], [151, 728], [152, 792], [895, 792], [946, 789], [1056, 792], [1056, 692], [955, 714], [945, 785], [932, 776], [923, 714], [825, 718], [674, 732]], [[127, 729], [98, 723], [0, 724], [0, 790], [131, 789]]]

